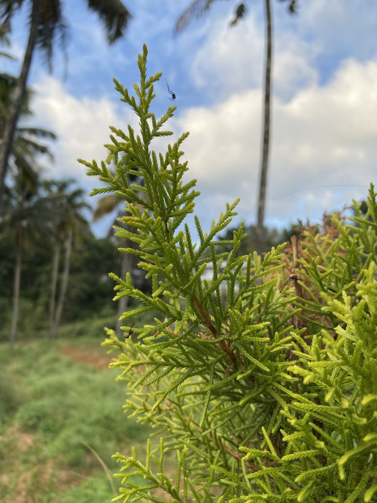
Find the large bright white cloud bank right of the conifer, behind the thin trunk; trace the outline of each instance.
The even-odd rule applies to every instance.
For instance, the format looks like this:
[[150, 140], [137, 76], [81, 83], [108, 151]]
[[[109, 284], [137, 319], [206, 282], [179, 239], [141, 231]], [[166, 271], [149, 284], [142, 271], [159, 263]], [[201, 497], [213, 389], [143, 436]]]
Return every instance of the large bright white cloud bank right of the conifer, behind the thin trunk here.
[[[274, 101], [267, 198], [276, 200], [267, 202], [269, 222], [317, 218], [367, 192], [318, 186], [377, 182], [376, 80], [377, 62], [348, 60], [326, 86]], [[176, 129], [191, 132], [186, 154], [202, 191], [197, 211], [209, 221], [238, 196], [239, 214], [255, 221], [260, 104], [260, 92], [246, 91], [211, 109], [188, 109], [177, 121]]]

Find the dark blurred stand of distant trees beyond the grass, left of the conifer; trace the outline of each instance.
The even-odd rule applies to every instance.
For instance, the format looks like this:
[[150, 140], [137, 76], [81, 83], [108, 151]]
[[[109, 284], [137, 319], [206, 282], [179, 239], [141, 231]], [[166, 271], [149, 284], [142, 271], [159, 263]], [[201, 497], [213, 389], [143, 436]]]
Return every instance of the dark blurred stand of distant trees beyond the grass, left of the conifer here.
[[[106, 305], [112, 309], [107, 272], [116, 265], [116, 245], [93, 236], [78, 209], [86, 206], [83, 191], [61, 192], [69, 185], [28, 186], [18, 174], [6, 192], [0, 222], [0, 336], [12, 345], [25, 315], [33, 318], [29, 328], [55, 338], [62, 319], [82, 319]], [[53, 192], [53, 186], [60, 189]], [[28, 313], [27, 305], [33, 307]]]

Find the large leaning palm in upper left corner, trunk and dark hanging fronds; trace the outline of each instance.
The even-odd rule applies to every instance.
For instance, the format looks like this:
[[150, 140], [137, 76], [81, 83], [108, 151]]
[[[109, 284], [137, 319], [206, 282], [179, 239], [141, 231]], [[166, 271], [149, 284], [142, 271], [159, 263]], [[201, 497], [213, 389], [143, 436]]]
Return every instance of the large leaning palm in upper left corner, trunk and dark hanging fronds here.
[[[17, 9], [26, 0], [0, 0], [0, 22], [7, 30], [11, 30], [11, 21]], [[29, 39], [25, 51], [20, 76], [13, 93], [9, 108], [9, 117], [5, 125], [2, 143], [0, 144], [0, 205], [4, 193], [5, 177], [8, 169], [8, 158], [12, 150], [16, 125], [21, 113], [25, 97], [26, 83], [30, 65], [36, 47], [42, 49], [49, 68], [52, 64], [53, 43], [56, 33], [61, 35], [61, 43], [65, 48], [67, 25], [62, 12], [62, 3], [56, 0], [29, 0]], [[123, 36], [131, 14], [120, 0], [86, 0], [88, 9], [95, 11], [105, 25], [107, 39], [110, 44]]]

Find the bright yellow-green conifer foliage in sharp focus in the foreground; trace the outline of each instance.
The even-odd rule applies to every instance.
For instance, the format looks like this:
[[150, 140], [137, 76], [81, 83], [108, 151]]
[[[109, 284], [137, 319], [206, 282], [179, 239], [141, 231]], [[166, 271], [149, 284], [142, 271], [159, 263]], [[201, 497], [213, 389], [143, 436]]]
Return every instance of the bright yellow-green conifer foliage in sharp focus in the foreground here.
[[[112, 366], [129, 385], [125, 410], [161, 437], [159, 444], [148, 441], [145, 460], [134, 449], [115, 455], [122, 467], [113, 501], [377, 501], [373, 187], [367, 214], [356, 205], [352, 225], [336, 222], [334, 241], [308, 239], [308, 295], [296, 296], [279, 276], [284, 245], [263, 259], [238, 257], [242, 224], [232, 239], [216, 238], [236, 203], [208, 232], [195, 217], [197, 236], [191, 235], [185, 217], [198, 193], [184, 177], [187, 133], [165, 155], [150, 149], [154, 138], [172, 134], [162, 128], [175, 107], [159, 120], [150, 112], [161, 73], [147, 77], [146, 58], [144, 46], [136, 98], [115, 81], [141, 130], [111, 128], [108, 161], [116, 175], [105, 162], [81, 161], [106, 184], [92, 194], [114, 192], [126, 201], [120, 220], [134, 231], [118, 227], [117, 235], [138, 245], [123, 251], [137, 254], [152, 279], [148, 296], [129, 276], [111, 275], [115, 298], [128, 295], [141, 305], [122, 319], [152, 309], [161, 314], [142, 328], [124, 326], [124, 342], [108, 330], [104, 343], [121, 350]], [[129, 185], [127, 174], [136, 173], [142, 183]], [[207, 264], [209, 281], [202, 279]], [[294, 328], [297, 316], [306, 327]]]

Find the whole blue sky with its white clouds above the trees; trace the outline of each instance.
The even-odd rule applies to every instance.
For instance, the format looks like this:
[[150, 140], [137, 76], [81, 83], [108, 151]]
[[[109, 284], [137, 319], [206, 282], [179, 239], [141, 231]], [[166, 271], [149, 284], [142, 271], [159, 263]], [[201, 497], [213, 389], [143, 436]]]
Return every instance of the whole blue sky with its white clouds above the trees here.
[[[55, 163], [46, 177], [74, 177], [93, 186], [77, 157], [105, 158], [109, 125], [136, 126], [119, 102], [112, 78], [132, 88], [137, 54], [148, 45], [148, 72], [163, 72], [176, 94], [170, 123], [185, 141], [190, 173], [202, 195], [196, 213], [203, 227], [241, 197], [239, 215], [256, 219], [261, 144], [263, 2], [249, 0], [248, 15], [229, 28], [237, 2], [214, 2], [210, 12], [173, 36], [190, 0], [125, 2], [133, 15], [126, 37], [108, 46], [101, 22], [83, 0], [66, 0], [70, 25], [68, 74], [56, 47], [49, 74], [42, 55], [33, 60], [33, 124], [55, 131]], [[299, 14], [272, 0], [274, 20], [272, 141], [266, 223], [282, 227], [297, 218], [320, 218], [377, 182], [377, 6], [374, 0], [299, 0]], [[26, 44], [26, 10], [15, 19], [12, 52]], [[19, 64], [4, 65], [14, 73]], [[165, 80], [155, 86], [153, 111], [168, 100]], [[155, 149], [160, 145], [154, 145]], [[321, 187], [319, 187], [321, 186]], [[335, 187], [336, 186], [336, 187]], [[347, 186], [347, 187], [346, 187]], [[351, 187], [350, 187], [351, 186]], [[315, 188], [318, 187], [318, 188]], [[92, 204], [94, 201], [91, 199]], [[93, 227], [104, 235], [111, 217]]]

